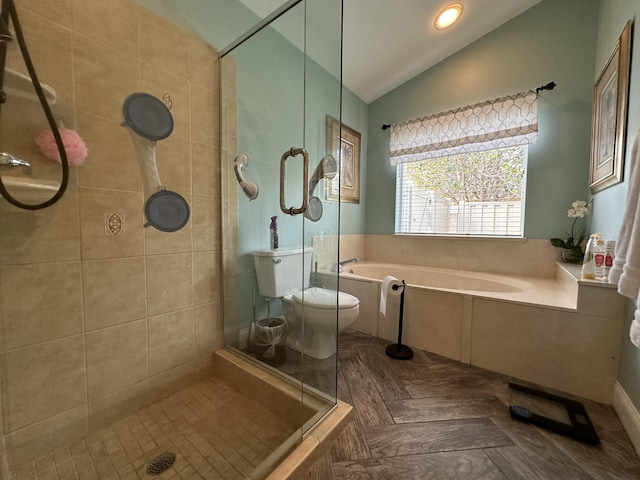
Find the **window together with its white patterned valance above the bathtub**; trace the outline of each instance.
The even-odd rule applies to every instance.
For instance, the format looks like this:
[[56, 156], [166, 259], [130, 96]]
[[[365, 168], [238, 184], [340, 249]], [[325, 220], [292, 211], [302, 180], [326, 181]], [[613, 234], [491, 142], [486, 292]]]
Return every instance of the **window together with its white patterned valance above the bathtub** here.
[[396, 233], [521, 237], [537, 91], [393, 124]]

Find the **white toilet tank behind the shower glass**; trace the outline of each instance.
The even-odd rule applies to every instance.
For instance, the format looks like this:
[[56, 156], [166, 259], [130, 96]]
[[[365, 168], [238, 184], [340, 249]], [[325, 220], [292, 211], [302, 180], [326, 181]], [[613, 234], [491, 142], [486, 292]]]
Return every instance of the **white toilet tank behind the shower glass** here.
[[311, 247], [253, 252], [260, 295], [278, 298], [307, 288], [312, 252]]

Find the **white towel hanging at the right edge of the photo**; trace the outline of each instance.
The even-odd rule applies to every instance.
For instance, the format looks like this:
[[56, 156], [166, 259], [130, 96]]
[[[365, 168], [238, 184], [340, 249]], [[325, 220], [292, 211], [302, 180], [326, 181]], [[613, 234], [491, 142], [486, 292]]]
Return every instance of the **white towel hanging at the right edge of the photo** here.
[[636, 300], [629, 337], [640, 348], [640, 130], [631, 150], [631, 174], [622, 227], [616, 243], [609, 281], [618, 284], [618, 293]]

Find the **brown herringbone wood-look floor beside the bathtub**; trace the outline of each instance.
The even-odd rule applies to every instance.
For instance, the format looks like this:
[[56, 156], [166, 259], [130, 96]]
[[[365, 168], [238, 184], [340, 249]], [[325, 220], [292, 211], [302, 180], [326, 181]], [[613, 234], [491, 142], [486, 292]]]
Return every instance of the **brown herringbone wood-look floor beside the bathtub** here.
[[640, 479], [640, 458], [608, 405], [576, 399], [602, 442], [588, 445], [512, 419], [514, 403], [558, 420], [564, 409], [518, 398], [504, 375], [415, 349], [394, 360], [389, 342], [355, 331], [339, 343], [338, 396], [355, 419], [307, 480]]

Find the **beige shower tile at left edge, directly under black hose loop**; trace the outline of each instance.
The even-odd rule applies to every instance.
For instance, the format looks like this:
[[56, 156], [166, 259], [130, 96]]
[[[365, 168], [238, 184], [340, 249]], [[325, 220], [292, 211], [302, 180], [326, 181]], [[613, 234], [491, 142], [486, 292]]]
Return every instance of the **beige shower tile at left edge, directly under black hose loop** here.
[[[70, 176], [75, 181], [75, 174]], [[51, 207], [27, 211], [0, 202], [0, 263], [80, 260], [78, 194], [70, 187]]]

